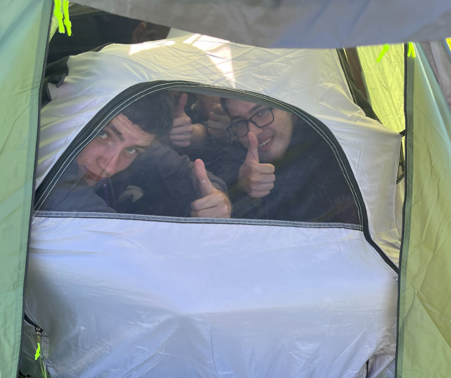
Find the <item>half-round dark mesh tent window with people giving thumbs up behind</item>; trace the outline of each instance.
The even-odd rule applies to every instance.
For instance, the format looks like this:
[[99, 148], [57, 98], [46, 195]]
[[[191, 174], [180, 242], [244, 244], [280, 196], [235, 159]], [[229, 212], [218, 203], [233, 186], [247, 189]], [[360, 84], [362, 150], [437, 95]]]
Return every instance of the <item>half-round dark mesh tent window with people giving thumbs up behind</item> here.
[[139, 97], [79, 143], [39, 210], [360, 225], [313, 118], [252, 101]]

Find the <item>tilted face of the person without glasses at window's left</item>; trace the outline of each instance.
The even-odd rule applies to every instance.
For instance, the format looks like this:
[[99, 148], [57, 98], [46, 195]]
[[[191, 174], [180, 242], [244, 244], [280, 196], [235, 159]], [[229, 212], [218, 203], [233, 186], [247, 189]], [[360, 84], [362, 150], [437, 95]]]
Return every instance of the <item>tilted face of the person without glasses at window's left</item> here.
[[93, 187], [126, 169], [154, 139], [155, 134], [143, 131], [119, 114], [75, 158], [78, 174]]

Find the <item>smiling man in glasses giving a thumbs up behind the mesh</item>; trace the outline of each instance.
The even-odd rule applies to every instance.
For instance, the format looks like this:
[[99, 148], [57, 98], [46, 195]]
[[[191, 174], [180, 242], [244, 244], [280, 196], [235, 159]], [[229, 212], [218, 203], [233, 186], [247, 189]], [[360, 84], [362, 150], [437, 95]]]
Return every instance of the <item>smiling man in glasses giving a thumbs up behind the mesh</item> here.
[[233, 218], [359, 224], [352, 190], [316, 129], [266, 105], [230, 98], [221, 105], [235, 142], [215, 174], [229, 188]]

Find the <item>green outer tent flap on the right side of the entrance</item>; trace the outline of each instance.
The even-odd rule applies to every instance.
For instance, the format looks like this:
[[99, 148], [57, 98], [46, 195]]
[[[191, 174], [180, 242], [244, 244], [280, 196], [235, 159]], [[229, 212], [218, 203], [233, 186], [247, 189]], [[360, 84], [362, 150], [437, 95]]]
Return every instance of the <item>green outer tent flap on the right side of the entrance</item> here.
[[398, 377], [451, 369], [451, 111], [426, 55], [407, 58]]

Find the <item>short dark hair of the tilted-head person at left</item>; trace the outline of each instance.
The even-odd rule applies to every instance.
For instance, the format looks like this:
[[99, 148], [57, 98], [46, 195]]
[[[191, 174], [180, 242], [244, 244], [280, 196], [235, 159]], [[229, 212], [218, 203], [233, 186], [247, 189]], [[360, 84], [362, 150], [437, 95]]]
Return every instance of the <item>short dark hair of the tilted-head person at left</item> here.
[[121, 113], [149, 134], [161, 136], [172, 127], [171, 97], [167, 91], [146, 94], [133, 101]]

